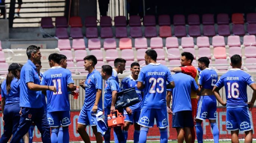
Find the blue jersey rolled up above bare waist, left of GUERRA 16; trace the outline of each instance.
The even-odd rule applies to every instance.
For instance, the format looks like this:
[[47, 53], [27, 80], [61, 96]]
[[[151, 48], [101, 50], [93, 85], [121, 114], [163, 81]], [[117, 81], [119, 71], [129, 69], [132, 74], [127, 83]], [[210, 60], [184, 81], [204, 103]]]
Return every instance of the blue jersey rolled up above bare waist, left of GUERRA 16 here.
[[199, 85], [202, 85], [204, 89], [212, 90], [216, 82], [218, 81], [218, 74], [211, 68], [206, 68], [200, 72]]

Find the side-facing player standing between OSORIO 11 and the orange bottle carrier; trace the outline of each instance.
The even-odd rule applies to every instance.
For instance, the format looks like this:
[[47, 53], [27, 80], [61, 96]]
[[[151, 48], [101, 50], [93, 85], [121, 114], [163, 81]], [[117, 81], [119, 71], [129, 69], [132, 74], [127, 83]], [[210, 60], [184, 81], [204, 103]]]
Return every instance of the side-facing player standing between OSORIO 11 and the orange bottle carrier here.
[[[97, 112], [102, 110], [102, 77], [96, 71], [95, 65], [97, 58], [93, 55], [84, 57], [84, 69], [89, 72], [86, 81], [80, 81], [80, 86], [85, 90], [84, 105], [80, 111], [77, 122], [77, 132], [80, 134], [85, 143], [90, 143], [90, 137], [86, 133], [86, 126], [91, 126], [96, 137], [97, 143], [102, 143], [101, 133], [97, 131], [97, 126], [92, 120], [91, 111]], [[112, 72], [112, 71], [111, 71]]]

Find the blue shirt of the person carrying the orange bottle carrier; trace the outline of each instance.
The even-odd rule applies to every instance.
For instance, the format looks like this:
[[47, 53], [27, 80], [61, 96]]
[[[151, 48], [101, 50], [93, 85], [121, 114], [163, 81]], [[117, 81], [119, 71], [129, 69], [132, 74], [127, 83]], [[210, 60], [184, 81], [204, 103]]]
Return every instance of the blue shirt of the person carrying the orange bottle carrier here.
[[107, 82], [105, 83], [104, 108], [111, 107], [112, 91], [120, 92], [120, 87], [114, 77], [108, 78]]

